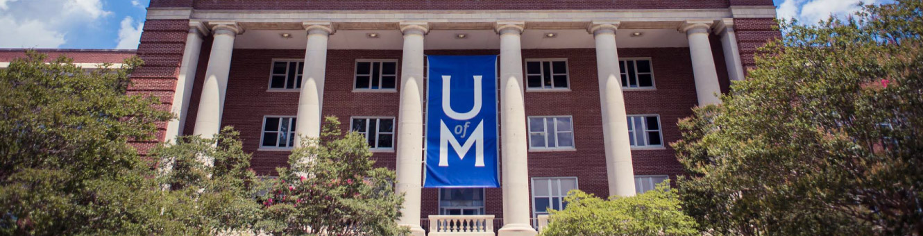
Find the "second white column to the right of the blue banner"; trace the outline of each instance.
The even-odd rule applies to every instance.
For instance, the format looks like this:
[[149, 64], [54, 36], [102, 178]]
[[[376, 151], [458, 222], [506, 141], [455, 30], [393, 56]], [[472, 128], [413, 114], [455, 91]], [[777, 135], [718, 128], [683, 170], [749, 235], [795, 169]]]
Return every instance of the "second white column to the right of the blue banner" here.
[[631, 164], [628, 116], [618, 70], [616, 30], [619, 22], [593, 24], [590, 32], [596, 40], [596, 69], [599, 100], [603, 114], [605, 171], [609, 195], [635, 195], [634, 168]]

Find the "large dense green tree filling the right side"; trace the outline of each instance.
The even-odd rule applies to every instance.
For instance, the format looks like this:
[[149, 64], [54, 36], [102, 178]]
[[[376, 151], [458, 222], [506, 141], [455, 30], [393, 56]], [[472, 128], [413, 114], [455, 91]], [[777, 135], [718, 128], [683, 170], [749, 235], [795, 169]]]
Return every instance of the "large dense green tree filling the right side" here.
[[680, 122], [684, 209], [717, 235], [923, 235], [923, 1], [781, 29]]

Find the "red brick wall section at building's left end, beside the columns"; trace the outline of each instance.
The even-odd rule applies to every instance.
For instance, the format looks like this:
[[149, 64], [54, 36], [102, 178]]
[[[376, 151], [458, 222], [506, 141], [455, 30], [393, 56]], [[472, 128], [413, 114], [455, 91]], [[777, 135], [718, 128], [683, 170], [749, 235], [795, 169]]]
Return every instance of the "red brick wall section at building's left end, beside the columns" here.
[[[157, 97], [162, 102], [162, 106], [158, 108], [170, 110], [188, 31], [189, 21], [186, 19], [157, 19], [145, 22], [141, 44], [138, 46], [138, 56], [144, 60], [145, 65], [132, 73], [134, 84], [129, 87], [128, 94]], [[148, 149], [163, 140], [166, 123], [158, 123], [157, 126], [156, 140], [133, 143], [142, 155], [147, 154]]]

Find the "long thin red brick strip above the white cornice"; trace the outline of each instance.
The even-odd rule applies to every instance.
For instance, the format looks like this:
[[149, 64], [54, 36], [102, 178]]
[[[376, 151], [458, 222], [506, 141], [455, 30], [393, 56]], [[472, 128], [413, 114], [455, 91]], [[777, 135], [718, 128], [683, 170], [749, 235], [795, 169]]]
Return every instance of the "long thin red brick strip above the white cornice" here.
[[152, 0], [150, 6], [241, 10], [694, 9], [773, 6], [772, 0]]

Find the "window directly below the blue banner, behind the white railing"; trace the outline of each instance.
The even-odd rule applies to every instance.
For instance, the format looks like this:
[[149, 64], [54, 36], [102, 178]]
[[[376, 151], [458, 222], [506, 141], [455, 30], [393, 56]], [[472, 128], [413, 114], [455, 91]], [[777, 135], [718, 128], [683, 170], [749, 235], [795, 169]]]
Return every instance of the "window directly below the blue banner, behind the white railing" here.
[[439, 189], [439, 215], [484, 215], [484, 189]]

